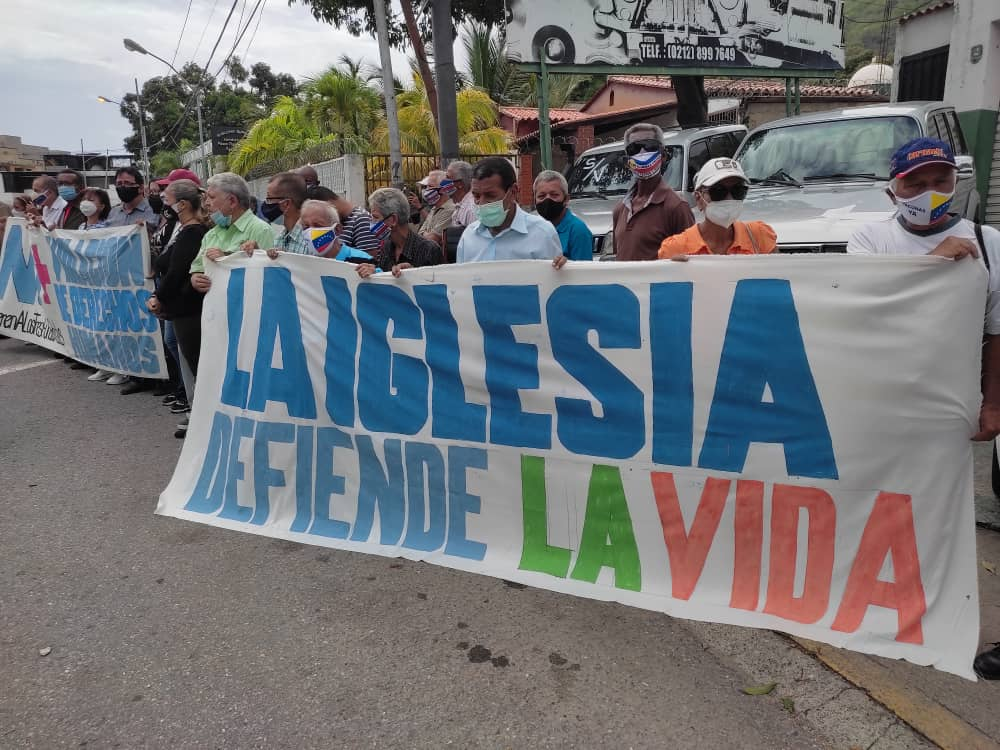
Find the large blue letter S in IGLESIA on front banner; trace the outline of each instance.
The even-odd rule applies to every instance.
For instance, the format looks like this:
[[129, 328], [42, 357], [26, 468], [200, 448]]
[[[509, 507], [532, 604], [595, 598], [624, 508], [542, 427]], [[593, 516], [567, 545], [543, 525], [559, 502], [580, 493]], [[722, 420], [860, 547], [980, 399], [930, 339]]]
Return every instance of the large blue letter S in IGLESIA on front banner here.
[[[546, 303], [552, 355], [601, 403], [555, 399], [559, 441], [573, 453], [630, 458], [646, 443], [642, 391], [587, 341], [597, 332], [602, 349], [639, 349], [639, 298], [621, 284], [581, 284], [557, 288]], [[614, 310], [614, 316], [608, 315]]]

